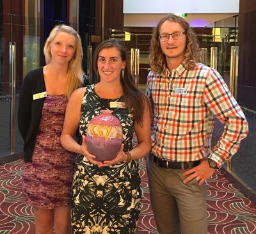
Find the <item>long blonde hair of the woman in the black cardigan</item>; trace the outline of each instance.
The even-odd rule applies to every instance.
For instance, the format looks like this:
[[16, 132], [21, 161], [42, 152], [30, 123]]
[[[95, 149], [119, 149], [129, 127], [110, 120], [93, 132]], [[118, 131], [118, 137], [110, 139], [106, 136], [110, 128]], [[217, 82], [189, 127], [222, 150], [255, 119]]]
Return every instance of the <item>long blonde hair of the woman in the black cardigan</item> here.
[[58, 35], [58, 33], [68, 33], [69, 35], [73, 35], [76, 38], [76, 50], [74, 52], [74, 56], [68, 62], [68, 74], [67, 74], [67, 97], [70, 97], [71, 93], [77, 88], [83, 85], [83, 77], [84, 72], [82, 68], [82, 58], [83, 58], [83, 48], [81, 38], [78, 35], [77, 31], [70, 26], [67, 25], [58, 25], [55, 26], [49, 37], [47, 38], [44, 45], [44, 56], [45, 63], [51, 63], [52, 55], [50, 50], [50, 45], [54, 37]]

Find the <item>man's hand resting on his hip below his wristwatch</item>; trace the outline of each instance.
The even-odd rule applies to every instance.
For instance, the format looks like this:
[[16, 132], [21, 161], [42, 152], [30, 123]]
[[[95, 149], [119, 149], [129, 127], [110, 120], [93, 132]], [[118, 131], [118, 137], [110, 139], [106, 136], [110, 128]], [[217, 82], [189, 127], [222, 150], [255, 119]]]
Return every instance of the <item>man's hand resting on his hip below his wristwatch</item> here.
[[202, 185], [205, 180], [212, 176], [214, 171], [215, 169], [210, 168], [207, 160], [203, 159], [198, 166], [183, 173], [184, 176], [189, 175], [183, 182], [188, 183], [190, 180], [193, 180], [193, 178], [196, 178], [198, 184]]

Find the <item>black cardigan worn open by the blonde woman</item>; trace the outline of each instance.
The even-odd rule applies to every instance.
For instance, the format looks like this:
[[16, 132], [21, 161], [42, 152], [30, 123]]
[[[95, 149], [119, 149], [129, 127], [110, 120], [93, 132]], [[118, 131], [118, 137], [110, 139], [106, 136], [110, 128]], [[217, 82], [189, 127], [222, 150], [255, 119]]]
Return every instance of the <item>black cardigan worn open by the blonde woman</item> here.
[[[90, 84], [84, 75], [83, 86]], [[29, 72], [20, 88], [18, 107], [18, 127], [24, 140], [24, 161], [32, 162], [38, 127], [41, 121], [42, 108], [45, 97], [33, 100], [33, 95], [46, 91], [43, 67]]]

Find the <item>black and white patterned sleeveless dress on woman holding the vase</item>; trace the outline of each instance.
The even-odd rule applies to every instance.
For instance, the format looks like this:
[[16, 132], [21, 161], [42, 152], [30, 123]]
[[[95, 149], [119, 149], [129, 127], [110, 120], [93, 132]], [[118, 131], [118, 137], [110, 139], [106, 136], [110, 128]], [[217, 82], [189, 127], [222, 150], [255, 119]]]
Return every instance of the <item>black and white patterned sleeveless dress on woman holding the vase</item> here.
[[[120, 120], [123, 130], [124, 152], [132, 149], [134, 134], [132, 114], [127, 108], [110, 108], [109, 102], [123, 102], [100, 98], [94, 85], [86, 86], [81, 105], [80, 134], [86, 134], [90, 120], [109, 109]], [[141, 209], [141, 179], [138, 160], [119, 162], [99, 168], [78, 155], [72, 184], [72, 233], [116, 234], [136, 233]]]

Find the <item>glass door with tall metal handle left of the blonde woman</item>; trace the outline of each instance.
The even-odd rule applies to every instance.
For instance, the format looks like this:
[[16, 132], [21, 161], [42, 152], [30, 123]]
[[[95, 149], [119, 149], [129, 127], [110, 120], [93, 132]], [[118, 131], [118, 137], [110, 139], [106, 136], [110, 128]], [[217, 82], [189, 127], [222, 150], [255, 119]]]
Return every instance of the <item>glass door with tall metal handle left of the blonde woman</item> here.
[[24, 75], [40, 63], [40, 20], [1, 14], [0, 160], [22, 152], [17, 128], [19, 91]]

